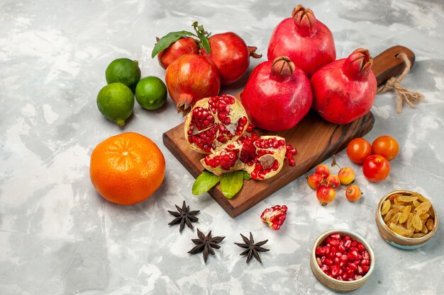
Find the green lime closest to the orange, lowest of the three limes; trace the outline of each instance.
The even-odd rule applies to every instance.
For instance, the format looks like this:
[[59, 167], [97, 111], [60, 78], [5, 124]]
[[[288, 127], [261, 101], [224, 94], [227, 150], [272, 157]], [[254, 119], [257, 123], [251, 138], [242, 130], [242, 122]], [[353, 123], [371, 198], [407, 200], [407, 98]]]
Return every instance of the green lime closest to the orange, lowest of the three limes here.
[[97, 95], [97, 107], [106, 119], [123, 126], [134, 108], [134, 95], [122, 83], [111, 83], [101, 88]]

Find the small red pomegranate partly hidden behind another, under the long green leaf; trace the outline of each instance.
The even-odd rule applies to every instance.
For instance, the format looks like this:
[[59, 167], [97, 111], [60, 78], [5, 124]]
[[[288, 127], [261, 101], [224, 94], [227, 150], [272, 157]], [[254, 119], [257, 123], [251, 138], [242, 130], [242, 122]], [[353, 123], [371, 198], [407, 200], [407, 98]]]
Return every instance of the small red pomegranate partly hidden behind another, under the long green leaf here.
[[192, 37], [183, 37], [172, 43], [170, 47], [157, 54], [157, 60], [162, 68], [167, 69], [172, 62], [184, 54], [199, 54], [197, 42]]

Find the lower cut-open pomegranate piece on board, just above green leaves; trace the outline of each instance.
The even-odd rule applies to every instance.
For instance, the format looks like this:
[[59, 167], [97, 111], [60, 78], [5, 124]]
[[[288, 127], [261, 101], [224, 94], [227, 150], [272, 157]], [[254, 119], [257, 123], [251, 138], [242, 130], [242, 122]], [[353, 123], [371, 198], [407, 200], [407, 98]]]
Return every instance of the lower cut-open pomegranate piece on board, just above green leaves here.
[[249, 137], [240, 137], [216, 149], [213, 154], [201, 159], [201, 163], [215, 175], [245, 170], [252, 179], [265, 180], [279, 173], [289, 154], [293, 155], [283, 137], [258, 137], [253, 132]]

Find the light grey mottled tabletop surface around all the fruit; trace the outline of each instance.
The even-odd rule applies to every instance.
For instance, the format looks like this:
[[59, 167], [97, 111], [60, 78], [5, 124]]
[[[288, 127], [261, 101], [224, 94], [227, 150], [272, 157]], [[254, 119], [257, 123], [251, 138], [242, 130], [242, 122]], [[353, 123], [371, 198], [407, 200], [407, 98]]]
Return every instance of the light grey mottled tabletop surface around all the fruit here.
[[[193, 178], [162, 144], [182, 122], [168, 99], [156, 112], [135, 105], [124, 129], [101, 116], [96, 94], [113, 59], [138, 59], [143, 76], [164, 78], [150, 57], [156, 36], [191, 30], [199, 21], [213, 33], [234, 31], [266, 55], [272, 30], [294, 1], [0, 1], [0, 294], [330, 294], [309, 268], [316, 237], [331, 228], [364, 236], [376, 270], [356, 294], [440, 294], [444, 285], [443, 231], [419, 250], [399, 250], [377, 232], [379, 199], [396, 189], [429, 197], [443, 216], [443, 1], [301, 1], [331, 28], [338, 58], [357, 47], [375, 56], [392, 45], [416, 53], [404, 86], [426, 100], [396, 114], [394, 94], [377, 96], [376, 122], [366, 138], [398, 139], [401, 151], [382, 183], [355, 168], [364, 197], [355, 204], [338, 192], [321, 207], [304, 177], [231, 219], [209, 195], [192, 196]], [[260, 60], [252, 61], [251, 69]], [[235, 93], [246, 79], [222, 93]], [[165, 182], [130, 207], [105, 202], [89, 181], [89, 156], [120, 132], [150, 137], [165, 154]], [[296, 146], [297, 148], [297, 146]], [[330, 161], [326, 161], [329, 163]], [[188, 255], [196, 230], [167, 223], [166, 212], [187, 200], [200, 209], [202, 231], [226, 236], [206, 265]], [[280, 231], [260, 213], [287, 204]], [[239, 233], [268, 238], [262, 265], [239, 256]]]

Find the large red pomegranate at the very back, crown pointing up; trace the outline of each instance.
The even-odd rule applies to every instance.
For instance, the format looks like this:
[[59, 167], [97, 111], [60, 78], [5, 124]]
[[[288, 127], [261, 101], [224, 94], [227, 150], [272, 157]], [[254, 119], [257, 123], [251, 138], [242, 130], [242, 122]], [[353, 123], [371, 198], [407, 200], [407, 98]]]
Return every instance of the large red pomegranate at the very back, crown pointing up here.
[[316, 20], [313, 11], [297, 6], [291, 18], [285, 18], [274, 29], [268, 45], [268, 60], [286, 56], [307, 76], [336, 59], [331, 31]]

